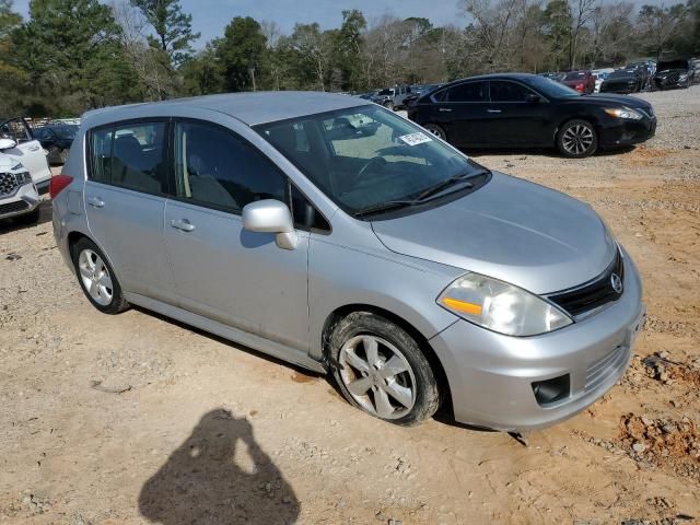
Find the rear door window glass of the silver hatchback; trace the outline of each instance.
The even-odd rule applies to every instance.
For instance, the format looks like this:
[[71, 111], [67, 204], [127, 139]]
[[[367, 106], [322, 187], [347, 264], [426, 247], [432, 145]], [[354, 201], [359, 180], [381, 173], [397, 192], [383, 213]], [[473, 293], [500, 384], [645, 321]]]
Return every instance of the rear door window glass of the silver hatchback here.
[[138, 122], [91, 133], [91, 178], [147, 194], [166, 194], [166, 125]]

